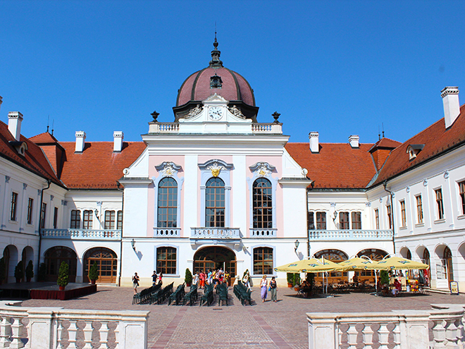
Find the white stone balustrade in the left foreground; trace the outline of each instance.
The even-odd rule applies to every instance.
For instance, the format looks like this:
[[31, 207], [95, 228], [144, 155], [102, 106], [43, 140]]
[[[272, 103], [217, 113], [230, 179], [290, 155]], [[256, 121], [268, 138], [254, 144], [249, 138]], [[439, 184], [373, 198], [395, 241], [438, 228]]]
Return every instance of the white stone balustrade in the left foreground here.
[[18, 305], [0, 304], [0, 348], [147, 349], [149, 312]]

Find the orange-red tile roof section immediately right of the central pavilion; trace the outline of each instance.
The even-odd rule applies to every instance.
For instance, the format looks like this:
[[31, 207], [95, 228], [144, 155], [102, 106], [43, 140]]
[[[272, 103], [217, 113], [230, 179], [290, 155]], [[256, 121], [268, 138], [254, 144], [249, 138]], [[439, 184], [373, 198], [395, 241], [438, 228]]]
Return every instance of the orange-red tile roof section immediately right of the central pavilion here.
[[365, 188], [376, 170], [368, 152], [373, 144], [352, 148], [349, 143], [320, 143], [318, 154], [309, 143], [287, 143], [287, 152], [297, 163], [309, 170], [314, 188]]

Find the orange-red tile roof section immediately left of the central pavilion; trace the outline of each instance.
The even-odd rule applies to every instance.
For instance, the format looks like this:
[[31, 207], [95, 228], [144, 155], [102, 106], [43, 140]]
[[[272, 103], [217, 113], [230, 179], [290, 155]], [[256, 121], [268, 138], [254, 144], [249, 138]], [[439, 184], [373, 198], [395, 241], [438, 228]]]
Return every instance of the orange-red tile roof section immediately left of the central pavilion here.
[[75, 153], [75, 142], [61, 142], [66, 149], [61, 180], [68, 188], [115, 189], [116, 181], [142, 154], [144, 142], [123, 142], [123, 151], [113, 152], [113, 142], [86, 142], [84, 152]]

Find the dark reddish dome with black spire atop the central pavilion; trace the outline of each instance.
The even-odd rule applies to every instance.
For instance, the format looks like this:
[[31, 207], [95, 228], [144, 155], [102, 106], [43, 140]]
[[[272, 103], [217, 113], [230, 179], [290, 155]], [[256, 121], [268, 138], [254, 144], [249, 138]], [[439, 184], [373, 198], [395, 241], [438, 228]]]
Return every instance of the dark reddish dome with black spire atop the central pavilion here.
[[242, 75], [223, 66], [216, 36], [213, 47], [209, 66], [196, 71], [182, 82], [176, 106], [173, 108], [175, 121], [216, 93], [227, 99], [231, 105], [237, 106], [246, 118], [252, 118], [256, 122], [258, 108], [255, 106], [254, 90]]

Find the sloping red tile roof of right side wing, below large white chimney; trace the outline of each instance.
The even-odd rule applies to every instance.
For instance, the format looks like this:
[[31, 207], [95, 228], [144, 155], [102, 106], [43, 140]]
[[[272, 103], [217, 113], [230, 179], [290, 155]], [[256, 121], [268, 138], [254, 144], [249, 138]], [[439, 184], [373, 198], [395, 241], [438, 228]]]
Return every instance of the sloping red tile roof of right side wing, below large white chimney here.
[[[417, 154], [415, 159], [410, 160], [409, 154], [407, 154], [409, 145], [425, 145], [425, 147]], [[421, 131], [421, 133], [414, 135], [407, 142], [392, 150], [373, 185], [378, 185], [386, 179], [423, 164], [438, 154], [458, 145], [465, 145], [465, 104], [460, 107], [460, 115], [447, 130], [445, 129], [444, 118], [441, 118]]]

